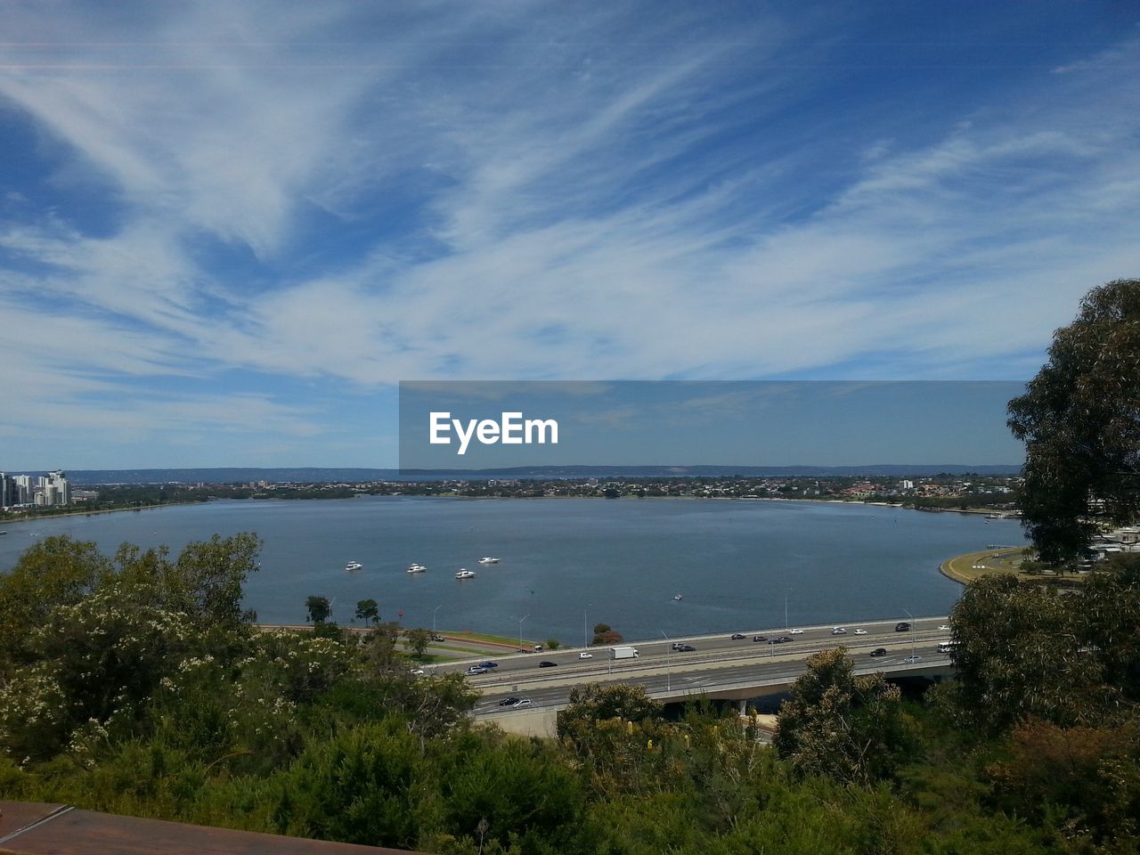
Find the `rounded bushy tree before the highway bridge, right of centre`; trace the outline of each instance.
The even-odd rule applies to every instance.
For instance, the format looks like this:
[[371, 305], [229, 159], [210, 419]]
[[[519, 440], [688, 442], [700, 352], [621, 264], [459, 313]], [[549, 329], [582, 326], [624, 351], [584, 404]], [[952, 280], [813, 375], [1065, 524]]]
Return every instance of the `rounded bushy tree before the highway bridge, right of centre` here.
[[898, 687], [854, 668], [844, 648], [814, 654], [781, 706], [773, 744], [800, 774], [869, 783], [894, 769], [903, 744]]

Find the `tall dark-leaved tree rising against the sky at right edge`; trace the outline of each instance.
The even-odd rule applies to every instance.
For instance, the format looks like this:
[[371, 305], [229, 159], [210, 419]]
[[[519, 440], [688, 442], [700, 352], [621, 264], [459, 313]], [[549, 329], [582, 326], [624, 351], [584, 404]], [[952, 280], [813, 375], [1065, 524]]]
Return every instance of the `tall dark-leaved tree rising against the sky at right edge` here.
[[1140, 511], [1140, 279], [1090, 291], [1049, 361], [1009, 402], [1026, 443], [1024, 523], [1042, 560], [1088, 547], [1098, 520]]

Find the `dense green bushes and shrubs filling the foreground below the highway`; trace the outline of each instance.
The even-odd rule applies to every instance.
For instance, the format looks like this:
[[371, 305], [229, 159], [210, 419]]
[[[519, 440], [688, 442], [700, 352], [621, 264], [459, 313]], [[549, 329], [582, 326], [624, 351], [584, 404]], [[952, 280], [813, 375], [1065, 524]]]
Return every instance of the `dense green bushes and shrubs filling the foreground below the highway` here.
[[0, 578], [0, 797], [456, 854], [1140, 852], [1134, 560], [970, 588], [922, 702], [814, 657], [772, 747], [633, 686], [575, 690], [553, 740], [473, 725], [392, 625], [260, 632], [256, 549], [51, 538]]

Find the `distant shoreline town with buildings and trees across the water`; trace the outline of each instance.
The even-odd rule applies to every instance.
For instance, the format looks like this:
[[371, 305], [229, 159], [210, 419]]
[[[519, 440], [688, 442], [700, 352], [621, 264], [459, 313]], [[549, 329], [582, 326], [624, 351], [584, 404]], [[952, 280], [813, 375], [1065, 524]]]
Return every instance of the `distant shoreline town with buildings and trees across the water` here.
[[206, 481], [99, 483], [72, 488], [63, 472], [0, 473], [5, 519], [92, 513], [211, 499], [320, 499], [355, 496], [453, 496], [464, 498], [719, 498], [885, 503], [929, 511], [1017, 513], [1021, 483], [1013, 475], [936, 474], [914, 478], [675, 477], [448, 479], [430, 481]]

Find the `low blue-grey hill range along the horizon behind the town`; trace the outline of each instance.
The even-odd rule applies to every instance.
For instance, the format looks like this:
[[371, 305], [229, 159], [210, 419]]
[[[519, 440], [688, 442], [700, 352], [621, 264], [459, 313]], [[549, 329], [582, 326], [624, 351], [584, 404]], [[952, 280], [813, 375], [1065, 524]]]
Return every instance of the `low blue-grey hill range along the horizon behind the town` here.
[[347, 482], [364, 481], [437, 481], [441, 479], [554, 479], [554, 478], [746, 478], [780, 477], [849, 477], [849, 475], [1013, 475], [1020, 464], [968, 466], [962, 464], [882, 463], [862, 466], [511, 466], [480, 470], [397, 470], [397, 469], [131, 469], [68, 470], [67, 478], [76, 484], [98, 483], [249, 483], [252, 481]]

